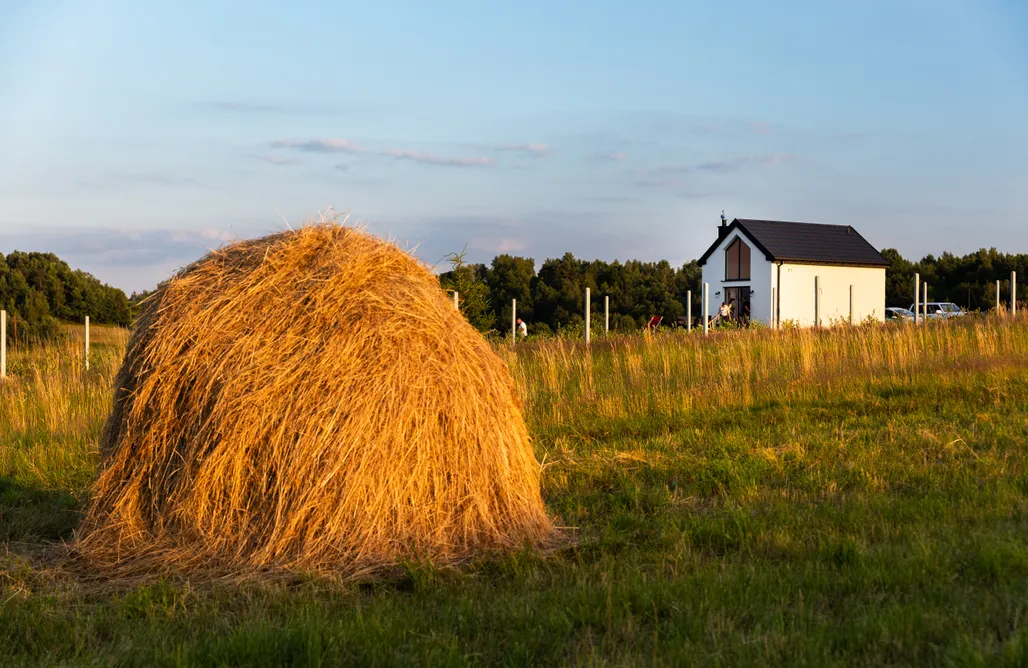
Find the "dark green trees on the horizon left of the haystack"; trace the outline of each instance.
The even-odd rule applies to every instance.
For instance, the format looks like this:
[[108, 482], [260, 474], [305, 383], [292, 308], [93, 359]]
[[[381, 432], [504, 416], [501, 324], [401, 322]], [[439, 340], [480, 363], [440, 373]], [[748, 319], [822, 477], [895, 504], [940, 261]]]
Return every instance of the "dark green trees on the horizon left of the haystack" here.
[[0, 253], [0, 309], [10, 340], [51, 338], [61, 322], [127, 326], [128, 298], [52, 253]]

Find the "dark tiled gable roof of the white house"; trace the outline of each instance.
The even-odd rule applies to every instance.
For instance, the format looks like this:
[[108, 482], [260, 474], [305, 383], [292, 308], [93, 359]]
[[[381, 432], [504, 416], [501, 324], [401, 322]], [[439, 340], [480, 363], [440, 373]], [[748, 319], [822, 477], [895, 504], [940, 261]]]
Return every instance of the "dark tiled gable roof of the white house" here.
[[[810, 264], [888, 266], [874, 246], [849, 225], [792, 223], [736, 218], [729, 229], [740, 229], [768, 260]], [[704, 264], [721, 245], [718, 239], [700, 258]]]

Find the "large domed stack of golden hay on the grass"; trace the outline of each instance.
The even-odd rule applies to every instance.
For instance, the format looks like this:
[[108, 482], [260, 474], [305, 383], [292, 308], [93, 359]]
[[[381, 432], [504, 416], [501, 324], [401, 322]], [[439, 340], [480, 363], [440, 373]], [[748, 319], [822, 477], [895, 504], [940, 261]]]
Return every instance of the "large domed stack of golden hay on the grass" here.
[[72, 553], [353, 579], [542, 546], [513, 381], [413, 257], [334, 222], [214, 251], [137, 321]]

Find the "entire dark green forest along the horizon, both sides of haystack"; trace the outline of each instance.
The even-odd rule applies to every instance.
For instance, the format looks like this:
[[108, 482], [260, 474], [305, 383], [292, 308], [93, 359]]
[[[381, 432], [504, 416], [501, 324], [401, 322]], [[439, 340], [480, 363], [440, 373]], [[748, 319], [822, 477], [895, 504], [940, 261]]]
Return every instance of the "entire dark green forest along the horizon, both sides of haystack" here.
[[[963, 257], [944, 253], [918, 261], [905, 259], [895, 249], [885, 249], [882, 255], [891, 263], [885, 279], [889, 306], [913, 301], [915, 273], [928, 283], [932, 300], [953, 301], [970, 310], [994, 305], [996, 281], [1007, 295], [1012, 271], [1024, 276], [1022, 286], [1028, 283], [1028, 254], [982, 249]], [[610, 299], [615, 331], [637, 330], [653, 316], [673, 322], [686, 314], [690, 291], [694, 318], [700, 313], [701, 271], [695, 261], [682, 266], [666, 260], [589, 261], [565, 253], [537, 268], [529, 257], [499, 255], [489, 264], [468, 263], [464, 258], [464, 253], [449, 256], [449, 270], [440, 274], [440, 283], [458, 293], [461, 310], [483, 333], [510, 331], [514, 299], [530, 334], [577, 331], [584, 325], [586, 288], [593, 296], [594, 327], [601, 327], [604, 297]], [[0, 308], [8, 313], [7, 335], [12, 340], [51, 337], [61, 322], [80, 323], [85, 316], [97, 324], [127, 326], [138, 302], [150, 292], [126, 297], [51, 253], [0, 254]], [[1024, 295], [1024, 288], [1019, 287], [1018, 293]]]

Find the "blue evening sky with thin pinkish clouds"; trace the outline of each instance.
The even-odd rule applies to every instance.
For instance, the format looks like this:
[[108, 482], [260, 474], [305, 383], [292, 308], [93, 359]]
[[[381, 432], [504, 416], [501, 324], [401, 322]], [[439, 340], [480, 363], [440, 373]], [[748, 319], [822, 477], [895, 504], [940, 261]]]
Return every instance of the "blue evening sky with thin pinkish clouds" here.
[[0, 0], [0, 252], [125, 290], [333, 208], [434, 264], [729, 218], [1028, 252], [1028, 3]]

